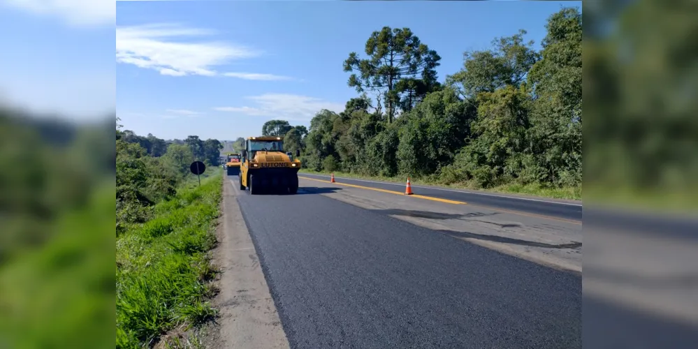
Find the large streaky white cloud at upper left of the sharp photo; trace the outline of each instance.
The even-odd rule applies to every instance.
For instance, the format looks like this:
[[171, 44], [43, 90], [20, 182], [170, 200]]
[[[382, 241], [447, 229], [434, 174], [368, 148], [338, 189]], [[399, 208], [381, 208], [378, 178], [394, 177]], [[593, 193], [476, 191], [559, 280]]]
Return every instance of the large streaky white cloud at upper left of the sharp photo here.
[[[215, 31], [176, 24], [147, 24], [117, 27], [116, 57], [123, 64], [154, 69], [162, 75], [216, 75], [214, 66], [233, 59], [257, 57], [261, 52], [220, 41], [192, 38], [211, 36]], [[186, 39], [186, 40], [184, 40]]]

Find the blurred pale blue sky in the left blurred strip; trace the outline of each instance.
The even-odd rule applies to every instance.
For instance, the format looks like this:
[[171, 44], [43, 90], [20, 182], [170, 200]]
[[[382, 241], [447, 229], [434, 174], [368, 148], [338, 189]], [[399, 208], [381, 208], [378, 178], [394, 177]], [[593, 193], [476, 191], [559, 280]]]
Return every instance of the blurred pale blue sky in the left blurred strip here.
[[115, 109], [115, 3], [0, 0], [0, 98], [99, 119]]

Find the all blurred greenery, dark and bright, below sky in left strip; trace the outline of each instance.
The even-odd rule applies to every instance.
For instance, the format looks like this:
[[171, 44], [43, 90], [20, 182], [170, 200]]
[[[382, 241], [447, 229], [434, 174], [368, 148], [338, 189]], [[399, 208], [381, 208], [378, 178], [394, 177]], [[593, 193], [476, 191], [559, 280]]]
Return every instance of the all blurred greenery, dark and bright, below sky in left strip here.
[[113, 345], [112, 122], [0, 107], [0, 347]]

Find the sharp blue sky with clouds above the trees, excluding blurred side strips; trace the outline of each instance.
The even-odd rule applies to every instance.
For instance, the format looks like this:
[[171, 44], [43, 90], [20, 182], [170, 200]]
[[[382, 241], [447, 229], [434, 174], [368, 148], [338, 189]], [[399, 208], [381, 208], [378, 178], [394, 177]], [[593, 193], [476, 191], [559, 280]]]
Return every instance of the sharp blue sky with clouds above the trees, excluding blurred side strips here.
[[495, 37], [526, 29], [538, 46], [547, 17], [563, 4], [581, 7], [569, 1], [120, 2], [117, 114], [125, 128], [161, 138], [234, 140], [258, 135], [270, 119], [308, 126], [319, 109], [341, 111], [356, 96], [342, 61], [351, 51], [365, 56], [372, 31], [412, 29], [442, 57], [443, 80], [462, 66], [464, 51], [487, 49]]

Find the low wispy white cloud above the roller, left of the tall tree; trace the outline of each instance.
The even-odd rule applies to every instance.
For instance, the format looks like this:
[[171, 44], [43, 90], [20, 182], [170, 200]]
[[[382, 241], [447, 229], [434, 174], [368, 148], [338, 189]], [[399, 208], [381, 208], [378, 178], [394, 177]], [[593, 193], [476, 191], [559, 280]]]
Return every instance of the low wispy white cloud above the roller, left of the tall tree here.
[[344, 110], [344, 104], [323, 101], [319, 98], [293, 94], [263, 94], [245, 97], [256, 103], [253, 107], [215, 107], [220, 112], [232, 112], [253, 117], [274, 117], [293, 121], [309, 121], [322, 109], [333, 112]]

